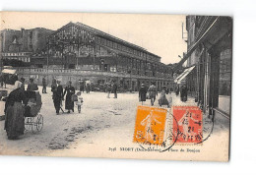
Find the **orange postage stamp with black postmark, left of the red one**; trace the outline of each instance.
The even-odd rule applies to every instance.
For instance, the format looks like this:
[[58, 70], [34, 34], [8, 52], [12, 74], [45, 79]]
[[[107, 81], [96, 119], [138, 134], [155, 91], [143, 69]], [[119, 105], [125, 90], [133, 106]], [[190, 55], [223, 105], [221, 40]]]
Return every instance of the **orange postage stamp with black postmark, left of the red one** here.
[[166, 109], [138, 106], [133, 142], [161, 145], [163, 142], [166, 115]]

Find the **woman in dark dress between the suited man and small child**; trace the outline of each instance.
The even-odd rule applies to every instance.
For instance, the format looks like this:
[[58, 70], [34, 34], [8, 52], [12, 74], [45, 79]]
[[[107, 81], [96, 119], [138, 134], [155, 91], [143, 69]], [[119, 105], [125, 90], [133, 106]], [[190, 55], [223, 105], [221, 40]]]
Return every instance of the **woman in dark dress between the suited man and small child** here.
[[75, 88], [72, 86], [71, 81], [68, 82], [68, 86], [65, 88], [63, 96], [65, 96], [66, 93], [65, 109], [68, 110], [68, 113], [70, 113], [70, 110], [74, 112], [74, 101], [72, 101], [72, 94], [75, 94]]

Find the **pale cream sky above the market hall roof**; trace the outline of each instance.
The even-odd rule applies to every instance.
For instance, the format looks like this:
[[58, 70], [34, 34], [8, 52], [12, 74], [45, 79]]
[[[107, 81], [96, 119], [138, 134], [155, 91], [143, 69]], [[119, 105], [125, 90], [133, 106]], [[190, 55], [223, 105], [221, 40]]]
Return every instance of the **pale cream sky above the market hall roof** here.
[[182, 15], [4, 12], [1, 29], [60, 29], [80, 22], [142, 46], [161, 57], [164, 64], [180, 61], [186, 52], [182, 39]]

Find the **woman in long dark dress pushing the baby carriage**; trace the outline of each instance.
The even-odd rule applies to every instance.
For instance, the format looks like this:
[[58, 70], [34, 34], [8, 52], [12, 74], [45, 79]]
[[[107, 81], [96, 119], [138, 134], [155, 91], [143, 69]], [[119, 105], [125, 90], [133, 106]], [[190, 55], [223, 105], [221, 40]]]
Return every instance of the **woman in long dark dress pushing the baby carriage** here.
[[5, 103], [5, 130], [8, 140], [16, 140], [20, 135], [24, 135], [25, 109], [22, 102], [27, 103], [27, 100], [24, 90], [21, 87], [22, 83], [16, 81], [15, 89], [10, 92]]

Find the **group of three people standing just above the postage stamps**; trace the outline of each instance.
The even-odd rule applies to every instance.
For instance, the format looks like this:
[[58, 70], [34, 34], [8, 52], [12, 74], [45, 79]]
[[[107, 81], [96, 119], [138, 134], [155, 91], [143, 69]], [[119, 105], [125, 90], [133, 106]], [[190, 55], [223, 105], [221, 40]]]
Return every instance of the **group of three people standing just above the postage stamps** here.
[[[167, 88], [162, 87], [160, 91], [160, 99], [159, 99], [160, 106], [167, 105], [167, 107], [169, 107], [169, 104], [171, 103], [170, 102], [171, 98], [168, 101], [166, 98], [166, 93], [168, 93]], [[153, 106], [156, 101], [157, 95], [158, 95], [158, 89], [154, 83], [152, 83], [150, 88], [146, 88], [146, 86], [142, 84], [139, 90], [139, 101], [141, 101], [143, 104], [143, 102], [146, 101], [147, 99], [151, 99], [151, 105]]]

